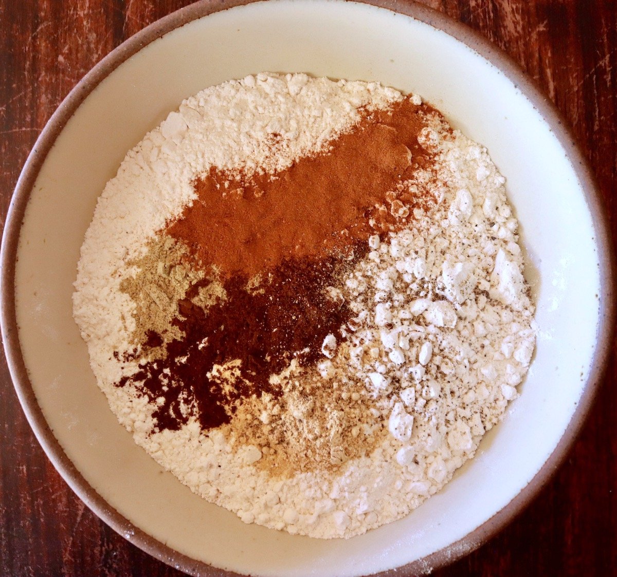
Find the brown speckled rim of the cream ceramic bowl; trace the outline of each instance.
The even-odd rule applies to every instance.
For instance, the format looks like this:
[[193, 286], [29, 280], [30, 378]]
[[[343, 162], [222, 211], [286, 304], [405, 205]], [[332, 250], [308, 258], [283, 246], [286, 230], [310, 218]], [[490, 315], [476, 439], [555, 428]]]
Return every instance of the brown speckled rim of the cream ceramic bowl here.
[[[19, 327], [15, 316], [15, 260], [19, 243], [19, 232], [22, 225], [25, 208], [30, 198], [30, 192], [35, 184], [39, 170], [51, 150], [57, 136], [60, 134], [67, 121], [72, 117], [78, 106], [86, 99], [96, 86], [107, 75], [120, 66], [125, 60], [141, 50], [144, 46], [161, 38], [168, 32], [179, 28], [196, 18], [230, 9], [236, 6], [250, 4], [256, 0], [201, 0], [195, 4], [184, 7], [172, 14], [167, 15], [157, 22], [139, 31], [135, 36], [120, 44], [110, 52], [101, 62], [73, 88], [56, 112], [49, 119], [42, 133], [39, 135], [22, 173], [15, 186], [15, 192], [10, 201], [7, 212], [6, 225], [2, 235], [2, 247], [0, 251], [0, 325], [2, 340], [9, 366], [10, 375], [17, 391], [17, 396], [22, 404], [23, 411], [32, 427], [36, 438], [43, 447], [49, 459], [52, 461], [60, 475], [67, 481], [70, 488], [77, 493], [89, 509], [113, 528], [117, 533], [128, 539], [139, 549], [156, 557], [171, 567], [182, 570], [189, 575], [196, 576], [225, 576], [238, 575], [230, 571], [220, 570], [204, 562], [191, 559], [177, 552], [157, 539], [134, 526], [117, 510], [110, 507], [104, 499], [90, 486], [81, 476], [75, 465], [68, 459], [64, 450], [54, 437], [47, 424], [43, 412], [36, 401], [35, 393], [31, 387], [28, 372], [22, 358], [19, 342]], [[257, 0], [259, 1], [259, 0]], [[599, 297], [600, 322], [597, 332], [597, 347], [592, 359], [590, 371], [578, 406], [568, 427], [563, 433], [561, 440], [550, 454], [539, 472], [528, 485], [516, 495], [508, 505], [499, 510], [482, 525], [478, 526], [470, 534], [444, 549], [427, 555], [408, 565], [396, 569], [383, 571], [380, 576], [391, 575], [420, 575], [444, 567], [449, 563], [463, 557], [478, 548], [507, 523], [518, 515], [539, 493], [540, 489], [557, 472], [561, 462], [571, 448], [574, 439], [580, 432], [590, 407], [594, 400], [598, 385], [606, 370], [610, 345], [612, 343], [613, 330], [615, 329], [615, 294], [613, 282], [615, 279], [615, 257], [611, 242], [610, 229], [605, 207], [595, 183], [595, 178], [590, 167], [578, 149], [574, 137], [566, 128], [566, 122], [560, 112], [536, 87], [528, 76], [521, 70], [505, 52], [493, 46], [487, 39], [481, 36], [465, 24], [452, 20], [436, 10], [416, 4], [409, 0], [357, 0], [363, 4], [371, 4], [383, 9], [392, 10], [399, 14], [420, 20], [438, 30], [453, 36], [453, 38], [466, 44], [471, 50], [491, 62], [498, 68], [515, 87], [526, 96], [536, 110], [547, 121], [551, 131], [555, 134], [565, 150], [566, 157], [572, 163], [576, 176], [581, 183], [587, 205], [594, 222], [595, 240], [598, 246], [598, 259], [600, 260], [600, 285], [602, 292]]]

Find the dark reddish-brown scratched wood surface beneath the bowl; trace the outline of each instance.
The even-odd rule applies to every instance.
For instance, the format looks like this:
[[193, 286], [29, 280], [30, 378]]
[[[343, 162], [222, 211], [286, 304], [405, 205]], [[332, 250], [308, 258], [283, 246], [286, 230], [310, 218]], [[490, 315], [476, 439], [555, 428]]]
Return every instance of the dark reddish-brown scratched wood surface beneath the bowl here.
[[[478, 30], [537, 81], [573, 126], [617, 217], [617, 4], [423, 0]], [[36, 137], [104, 55], [186, 0], [0, 0], [2, 222]], [[537, 499], [453, 576], [617, 575], [617, 382], [613, 360], [565, 464]], [[0, 575], [175, 576], [104, 525], [59, 477], [0, 364]]]

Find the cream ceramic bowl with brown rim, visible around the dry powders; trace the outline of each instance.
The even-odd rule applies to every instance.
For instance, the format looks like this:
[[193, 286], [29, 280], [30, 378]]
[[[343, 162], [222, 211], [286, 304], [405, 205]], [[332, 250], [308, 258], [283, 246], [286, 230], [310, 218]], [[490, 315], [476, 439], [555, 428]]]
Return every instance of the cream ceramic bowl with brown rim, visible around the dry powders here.
[[[428, 570], [529, 501], [563, 458], [607, 354], [607, 227], [557, 114], [500, 52], [419, 6], [199, 2], [146, 28], [68, 96], [28, 158], [2, 245], [2, 331], [49, 458], [103, 520], [185, 571], [251, 575]], [[522, 395], [478, 456], [408, 517], [347, 541], [244, 525], [164, 472], [115, 419], [71, 311], [97, 196], [127, 150], [197, 91], [249, 73], [379, 80], [420, 94], [486, 145], [520, 219], [539, 335]], [[211, 565], [212, 567], [208, 567]]]

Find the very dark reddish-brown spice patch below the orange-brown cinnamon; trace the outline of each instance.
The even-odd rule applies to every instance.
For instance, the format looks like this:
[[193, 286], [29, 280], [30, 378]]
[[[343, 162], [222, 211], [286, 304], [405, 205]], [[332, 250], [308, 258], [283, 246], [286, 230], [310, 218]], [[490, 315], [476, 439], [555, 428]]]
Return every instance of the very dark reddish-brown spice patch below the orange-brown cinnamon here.
[[[233, 276], [224, 284], [226, 300], [207, 313], [191, 298], [209, 281], [194, 285], [180, 302], [183, 318], [173, 322], [184, 338], [165, 346], [164, 359], [141, 363], [137, 374], [119, 384], [135, 382], [152, 401], [164, 399], [154, 413], [159, 430], [178, 430], [191, 414], [204, 430], [218, 427], [230, 422], [239, 399], [260, 391], [278, 396], [278, 389], [268, 382], [271, 374], [281, 372], [293, 358], [302, 366], [315, 364], [326, 335], [341, 338], [340, 327], [352, 311], [343, 300], [332, 300], [325, 289], [365, 255], [364, 247], [366, 242], [354, 247], [352, 258], [286, 260], [259, 287], [263, 292], [248, 292], [247, 277]], [[149, 341], [154, 344], [155, 339], [149, 336]], [[234, 359], [241, 364], [231, 387], [207, 377], [215, 364]], [[181, 402], [191, 407], [190, 412], [181, 411]]]

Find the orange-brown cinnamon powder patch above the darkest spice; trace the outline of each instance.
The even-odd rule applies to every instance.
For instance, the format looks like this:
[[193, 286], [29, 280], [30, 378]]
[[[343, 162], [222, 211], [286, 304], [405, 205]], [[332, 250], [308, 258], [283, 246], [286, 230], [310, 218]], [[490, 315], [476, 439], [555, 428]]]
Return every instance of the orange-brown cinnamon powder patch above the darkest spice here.
[[435, 111], [408, 98], [365, 113], [327, 150], [277, 174], [210, 168], [195, 182], [197, 200], [167, 233], [223, 276], [251, 277], [285, 258], [345, 252], [375, 232], [400, 229], [428, 202], [397, 190], [428, 162], [417, 138], [427, 113]]

